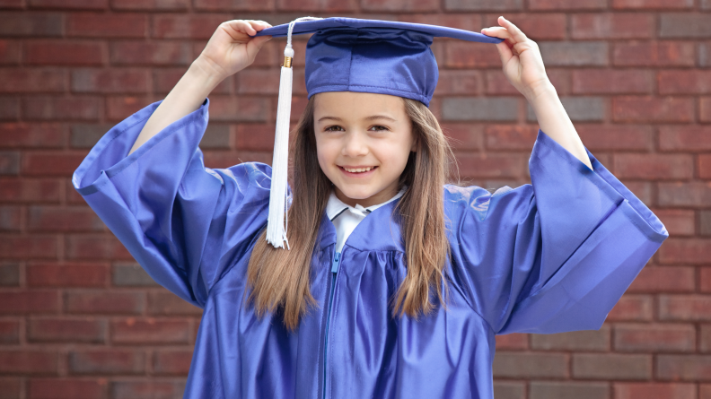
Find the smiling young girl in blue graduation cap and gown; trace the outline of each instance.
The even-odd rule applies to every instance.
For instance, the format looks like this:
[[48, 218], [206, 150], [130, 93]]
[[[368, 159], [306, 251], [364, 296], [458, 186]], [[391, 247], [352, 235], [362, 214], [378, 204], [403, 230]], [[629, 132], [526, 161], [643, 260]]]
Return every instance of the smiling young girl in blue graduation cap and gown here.
[[532, 185], [444, 185], [451, 152], [427, 105], [429, 44], [447, 29], [402, 22], [296, 24], [315, 34], [289, 249], [265, 239], [272, 169], [208, 169], [198, 148], [206, 96], [279, 27], [224, 22], [165, 100], [95, 145], [75, 188], [204, 308], [185, 397], [490, 398], [496, 334], [600, 328], [668, 234], [581, 143], [536, 44], [498, 22], [490, 38], [444, 35], [505, 39], [505, 75], [540, 124]]

